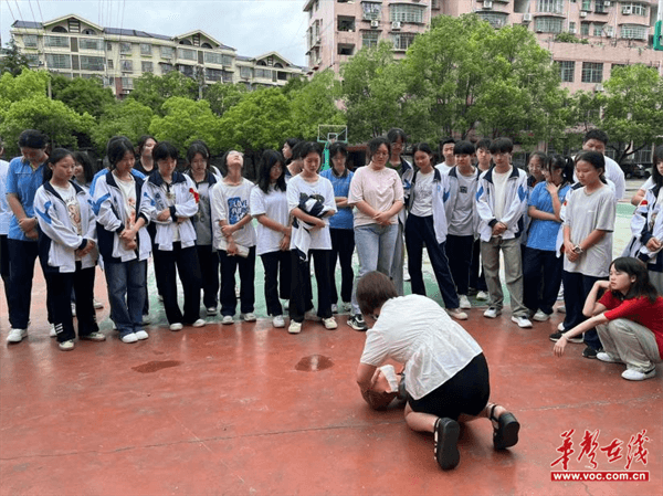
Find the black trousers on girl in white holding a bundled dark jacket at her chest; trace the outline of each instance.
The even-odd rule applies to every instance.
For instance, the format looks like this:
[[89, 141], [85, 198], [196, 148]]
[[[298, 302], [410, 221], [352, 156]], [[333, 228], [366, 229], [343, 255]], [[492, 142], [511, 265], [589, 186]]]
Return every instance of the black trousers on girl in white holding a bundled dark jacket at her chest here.
[[332, 250], [309, 250], [308, 260], [302, 261], [295, 250], [291, 251], [292, 263], [292, 289], [290, 303], [290, 317], [297, 323], [304, 321], [306, 312], [313, 308], [312, 285], [311, 285], [311, 258], [315, 267], [315, 281], [318, 289], [318, 310], [320, 318], [332, 317], [332, 299], [329, 298], [329, 285], [332, 276], [329, 274], [329, 256]]

